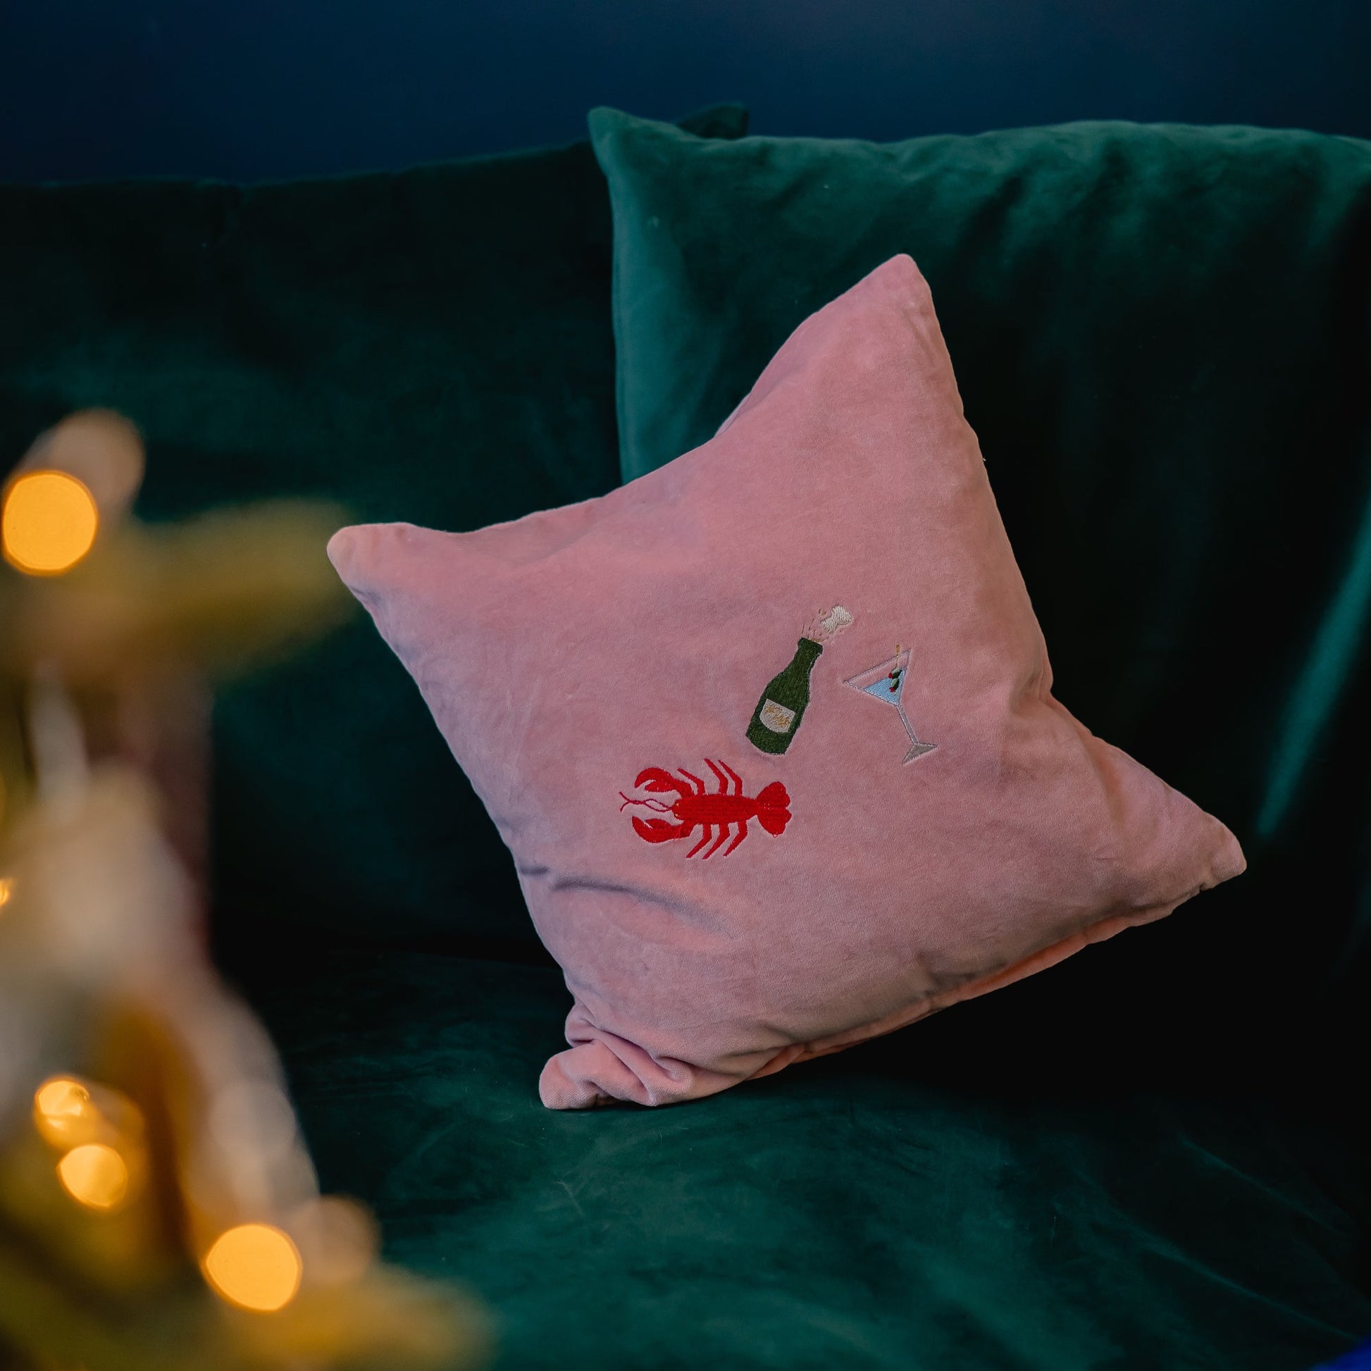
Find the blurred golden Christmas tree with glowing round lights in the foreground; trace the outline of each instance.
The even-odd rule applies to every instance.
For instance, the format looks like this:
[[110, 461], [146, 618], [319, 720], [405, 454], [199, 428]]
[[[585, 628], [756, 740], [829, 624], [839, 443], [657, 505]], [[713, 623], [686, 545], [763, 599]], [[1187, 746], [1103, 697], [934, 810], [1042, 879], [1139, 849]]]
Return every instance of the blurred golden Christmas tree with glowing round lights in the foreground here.
[[319, 1193], [204, 946], [207, 683], [350, 610], [345, 515], [144, 525], [144, 465], [81, 411], [0, 513], [0, 1367], [469, 1371], [483, 1311]]

